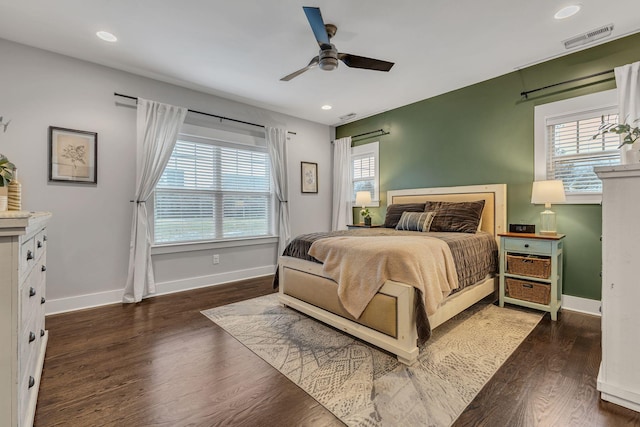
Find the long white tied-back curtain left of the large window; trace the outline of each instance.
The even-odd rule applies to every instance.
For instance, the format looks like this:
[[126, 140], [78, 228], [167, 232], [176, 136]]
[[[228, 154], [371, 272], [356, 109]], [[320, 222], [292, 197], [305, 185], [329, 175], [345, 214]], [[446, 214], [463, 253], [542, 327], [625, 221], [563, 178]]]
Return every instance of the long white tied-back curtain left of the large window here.
[[142, 301], [156, 291], [146, 201], [171, 157], [186, 115], [186, 108], [138, 98], [136, 193], [124, 302]]

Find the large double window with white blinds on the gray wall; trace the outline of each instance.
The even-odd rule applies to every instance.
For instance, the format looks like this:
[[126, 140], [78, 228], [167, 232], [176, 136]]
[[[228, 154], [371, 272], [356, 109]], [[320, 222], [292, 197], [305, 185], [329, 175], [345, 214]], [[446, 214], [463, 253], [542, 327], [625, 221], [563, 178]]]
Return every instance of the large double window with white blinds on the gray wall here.
[[273, 235], [266, 149], [179, 140], [155, 188], [158, 244]]

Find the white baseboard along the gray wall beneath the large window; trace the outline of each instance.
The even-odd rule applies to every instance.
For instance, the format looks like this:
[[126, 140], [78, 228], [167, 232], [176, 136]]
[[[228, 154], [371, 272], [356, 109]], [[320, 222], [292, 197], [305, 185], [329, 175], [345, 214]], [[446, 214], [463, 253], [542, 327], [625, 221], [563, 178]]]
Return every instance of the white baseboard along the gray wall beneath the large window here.
[[[275, 271], [275, 265], [268, 265], [247, 270], [230, 271], [227, 273], [211, 274], [209, 276], [190, 277], [188, 279], [156, 283], [156, 293], [149, 295], [146, 298], [188, 291], [191, 289], [205, 288], [207, 286], [222, 285], [224, 283], [236, 282], [238, 280], [268, 276], [273, 274]], [[66, 313], [69, 311], [84, 310], [86, 308], [121, 303], [123, 292], [124, 289], [115, 289], [106, 292], [50, 299], [47, 300], [46, 314]]]

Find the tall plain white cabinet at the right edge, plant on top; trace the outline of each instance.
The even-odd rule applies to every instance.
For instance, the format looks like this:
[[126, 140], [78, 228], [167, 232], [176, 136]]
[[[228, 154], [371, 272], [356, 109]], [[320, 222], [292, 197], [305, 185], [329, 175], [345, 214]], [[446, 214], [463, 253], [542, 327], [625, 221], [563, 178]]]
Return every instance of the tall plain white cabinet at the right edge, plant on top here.
[[602, 179], [602, 399], [640, 411], [640, 165]]

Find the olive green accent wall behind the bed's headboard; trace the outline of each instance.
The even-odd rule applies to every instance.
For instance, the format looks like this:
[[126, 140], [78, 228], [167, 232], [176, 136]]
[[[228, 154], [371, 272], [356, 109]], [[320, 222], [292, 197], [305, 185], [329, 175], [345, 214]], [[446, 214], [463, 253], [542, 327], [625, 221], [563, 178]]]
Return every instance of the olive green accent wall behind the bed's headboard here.
[[[539, 227], [543, 206], [531, 204], [534, 177], [534, 107], [615, 88], [613, 74], [520, 93], [640, 60], [640, 34], [339, 126], [338, 138], [384, 129], [380, 141], [381, 207], [386, 192], [402, 188], [507, 184], [507, 223]], [[470, 64], [470, 67], [473, 65]], [[425, 71], [428, 74], [428, 71]], [[428, 76], [425, 76], [428, 78]], [[554, 205], [565, 239], [563, 293], [600, 299], [602, 212], [600, 205]], [[359, 221], [358, 212], [354, 215]]]

